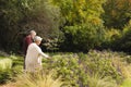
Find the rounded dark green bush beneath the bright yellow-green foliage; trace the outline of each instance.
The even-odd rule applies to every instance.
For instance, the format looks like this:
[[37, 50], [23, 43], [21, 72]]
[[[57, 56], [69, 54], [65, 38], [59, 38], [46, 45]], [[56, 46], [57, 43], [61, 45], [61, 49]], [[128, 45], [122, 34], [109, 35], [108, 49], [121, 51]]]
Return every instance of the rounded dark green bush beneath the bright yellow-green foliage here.
[[[104, 27], [93, 24], [82, 24], [74, 26], [66, 26], [66, 34], [69, 37], [69, 48], [73, 50], [88, 51], [95, 47], [99, 47], [104, 39]], [[72, 46], [72, 47], [71, 47]]]

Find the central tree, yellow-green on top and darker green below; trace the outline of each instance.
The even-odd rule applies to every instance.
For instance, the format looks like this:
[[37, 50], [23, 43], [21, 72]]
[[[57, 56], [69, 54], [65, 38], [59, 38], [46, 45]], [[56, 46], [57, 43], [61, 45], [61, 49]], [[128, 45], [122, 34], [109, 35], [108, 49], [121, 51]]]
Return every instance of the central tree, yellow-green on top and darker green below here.
[[104, 12], [102, 4], [105, 0], [52, 0], [52, 2], [61, 9], [63, 18], [61, 30], [66, 36], [63, 49], [87, 51], [99, 45], [104, 28], [100, 20]]

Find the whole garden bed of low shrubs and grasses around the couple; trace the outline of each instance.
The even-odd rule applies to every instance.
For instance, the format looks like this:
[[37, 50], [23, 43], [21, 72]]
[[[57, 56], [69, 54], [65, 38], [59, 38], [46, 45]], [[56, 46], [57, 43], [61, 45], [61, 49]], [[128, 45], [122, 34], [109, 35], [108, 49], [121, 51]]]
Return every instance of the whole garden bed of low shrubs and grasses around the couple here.
[[50, 53], [43, 73], [23, 71], [23, 58], [0, 58], [0, 84], [10, 87], [130, 87], [131, 55], [123, 52]]

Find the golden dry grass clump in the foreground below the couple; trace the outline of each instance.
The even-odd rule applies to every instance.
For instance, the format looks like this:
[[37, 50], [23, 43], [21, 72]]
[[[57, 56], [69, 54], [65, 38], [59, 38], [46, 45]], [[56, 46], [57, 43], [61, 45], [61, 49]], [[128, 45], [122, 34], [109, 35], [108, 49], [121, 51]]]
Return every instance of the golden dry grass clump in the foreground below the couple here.
[[53, 74], [22, 74], [16, 78], [16, 87], [60, 87], [63, 83], [60, 78], [53, 78]]

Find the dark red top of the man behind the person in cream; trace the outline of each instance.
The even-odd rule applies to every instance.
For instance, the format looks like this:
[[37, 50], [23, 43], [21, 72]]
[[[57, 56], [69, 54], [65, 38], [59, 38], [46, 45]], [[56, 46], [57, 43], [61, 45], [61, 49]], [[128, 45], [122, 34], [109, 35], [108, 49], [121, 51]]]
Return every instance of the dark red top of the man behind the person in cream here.
[[24, 54], [26, 54], [26, 51], [27, 51], [27, 47], [29, 46], [29, 44], [33, 42], [33, 39], [31, 37], [31, 35], [26, 36], [24, 38], [24, 42], [23, 42], [23, 50], [24, 50]]

